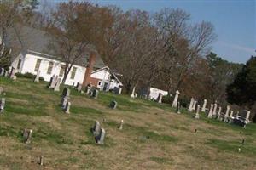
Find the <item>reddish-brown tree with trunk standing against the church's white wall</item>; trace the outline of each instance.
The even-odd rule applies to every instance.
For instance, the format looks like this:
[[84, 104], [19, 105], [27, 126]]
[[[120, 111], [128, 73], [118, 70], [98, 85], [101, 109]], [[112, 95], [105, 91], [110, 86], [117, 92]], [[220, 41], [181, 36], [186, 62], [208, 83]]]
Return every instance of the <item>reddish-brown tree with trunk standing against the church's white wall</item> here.
[[49, 44], [50, 49], [57, 59], [65, 63], [62, 82], [66, 81], [75, 62], [89, 50], [95, 50], [91, 44], [101, 41], [111, 24], [108, 8], [72, 1], [58, 5], [50, 17], [47, 30], [53, 40]]

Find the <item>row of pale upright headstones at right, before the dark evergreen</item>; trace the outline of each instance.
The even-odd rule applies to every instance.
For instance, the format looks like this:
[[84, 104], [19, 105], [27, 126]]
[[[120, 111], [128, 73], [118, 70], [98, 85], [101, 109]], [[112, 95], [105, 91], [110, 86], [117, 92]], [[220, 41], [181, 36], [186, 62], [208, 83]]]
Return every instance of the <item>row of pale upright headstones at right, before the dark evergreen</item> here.
[[[197, 104], [197, 101], [194, 98], [191, 98], [190, 104], [189, 104], [189, 111], [195, 111], [195, 106]], [[217, 111], [218, 109], [218, 111]], [[203, 106], [201, 107], [200, 105], [197, 105], [196, 107], [196, 116], [195, 118], [199, 118], [199, 112], [207, 112], [207, 118], [216, 118], [219, 121], [223, 122], [229, 122], [232, 123], [234, 120], [240, 120], [247, 124], [249, 122], [249, 116], [250, 116], [250, 111], [247, 111], [247, 116], [245, 118], [241, 118], [239, 116], [239, 113], [234, 116], [234, 111], [230, 111], [230, 106], [227, 105], [227, 109], [225, 111], [225, 114], [222, 112], [222, 107], [218, 107], [217, 103], [211, 104], [210, 109], [207, 109], [207, 99], [204, 99]]]

